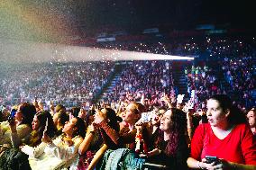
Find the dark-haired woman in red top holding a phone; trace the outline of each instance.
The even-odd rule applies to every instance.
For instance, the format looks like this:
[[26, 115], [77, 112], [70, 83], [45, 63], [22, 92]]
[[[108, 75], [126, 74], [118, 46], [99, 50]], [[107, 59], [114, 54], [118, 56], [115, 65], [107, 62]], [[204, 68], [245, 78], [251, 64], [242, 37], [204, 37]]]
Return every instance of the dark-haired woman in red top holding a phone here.
[[[197, 127], [187, 166], [197, 169], [256, 169], [256, 141], [245, 115], [230, 98], [216, 94], [207, 101], [208, 123]], [[217, 157], [208, 162], [206, 156]]]

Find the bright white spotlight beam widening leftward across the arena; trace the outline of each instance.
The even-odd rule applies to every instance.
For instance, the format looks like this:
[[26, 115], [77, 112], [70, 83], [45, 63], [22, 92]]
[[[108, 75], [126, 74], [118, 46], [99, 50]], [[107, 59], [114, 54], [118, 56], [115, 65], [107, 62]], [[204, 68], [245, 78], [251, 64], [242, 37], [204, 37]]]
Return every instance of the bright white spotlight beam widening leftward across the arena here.
[[97, 49], [52, 43], [0, 39], [4, 63], [85, 62], [103, 60], [193, 60], [193, 57], [152, 54], [114, 49]]

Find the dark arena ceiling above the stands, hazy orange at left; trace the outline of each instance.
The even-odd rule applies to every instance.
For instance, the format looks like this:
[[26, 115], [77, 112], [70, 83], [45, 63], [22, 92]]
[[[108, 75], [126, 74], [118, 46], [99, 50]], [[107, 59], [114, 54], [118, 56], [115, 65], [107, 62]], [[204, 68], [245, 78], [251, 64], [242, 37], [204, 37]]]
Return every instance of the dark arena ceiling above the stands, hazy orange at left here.
[[107, 29], [252, 27], [252, 2], [231, 0], [1, 0], [0, 37], [61, 41]]

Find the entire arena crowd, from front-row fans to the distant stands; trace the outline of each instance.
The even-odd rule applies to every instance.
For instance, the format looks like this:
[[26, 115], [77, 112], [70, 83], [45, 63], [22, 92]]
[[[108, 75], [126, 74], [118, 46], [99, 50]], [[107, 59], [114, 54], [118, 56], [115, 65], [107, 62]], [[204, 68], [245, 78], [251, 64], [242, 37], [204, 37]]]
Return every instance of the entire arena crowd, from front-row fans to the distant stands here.
[[171, 61], [126, 62], [100, 103], [92, 99], [114, 62], [8, 69], [0, 83], [0, 169], [256, 169], [251, 46], [210, 38], [133, 45], [118, 48], [205, 51], [210, 62], [187, 62], [186, 95]]

